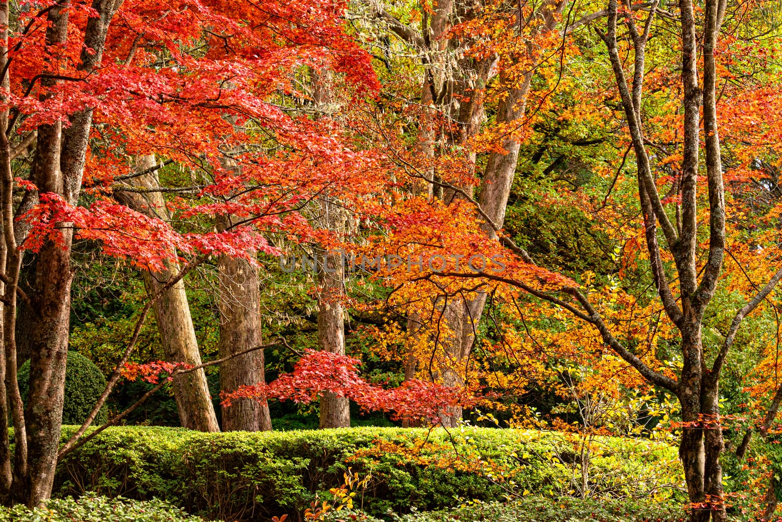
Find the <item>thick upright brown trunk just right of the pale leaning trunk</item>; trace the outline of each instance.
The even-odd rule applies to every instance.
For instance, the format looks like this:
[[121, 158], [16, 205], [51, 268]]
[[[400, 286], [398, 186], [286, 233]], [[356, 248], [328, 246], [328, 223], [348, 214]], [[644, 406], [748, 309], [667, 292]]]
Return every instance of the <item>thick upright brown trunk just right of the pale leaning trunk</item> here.
[[[217, 229], [225, 229], [218, 218]], [[220, 308], [220, 358], [260, 346], [260, 289], [257, 268], [246, 259], [221, 255], [217, 259]], [[220, 389], [233, 391], [240, 386], [264, 382], [264, 351], [256, 350], [220, 365]], [[222, 407], [224, 431], [271, 430], [268, 405], [246, 398]]]

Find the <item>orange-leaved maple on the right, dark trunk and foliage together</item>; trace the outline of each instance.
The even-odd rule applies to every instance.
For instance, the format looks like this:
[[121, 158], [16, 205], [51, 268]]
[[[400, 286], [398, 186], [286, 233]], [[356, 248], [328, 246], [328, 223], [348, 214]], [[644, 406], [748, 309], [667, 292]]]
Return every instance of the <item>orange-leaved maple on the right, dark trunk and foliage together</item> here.
[[[464, 265], [459, 270], [449, 263], [445, 269], [430, 273], [422, 270], [407, 278], [400, 272], [389, 274], [398, 297], [396, 304], [399, 308], [396, 310], [405, 313], [415, 309], [415, 322], [425, 317], [423, 322], [431, 326], [429, 331], [434, 344], [446, 347], [446, 357], [448, 347], [466, 347], [466, 353], [472, 350], [483, 308], [481, 300], [503, 285], [526, 296], [527, 306], [545, 302], [594, 327], [594, 332], [601, 336], [602, 344], [622, 358], [627, 367], [636, 371], [647, 383], [668, 391], [680, 401], [683, 421], [680, 456], [686, 471], [693, 519], [708, 520], [711, 517], [725, 520], [726, 500], [720, 465], [724, 441], [719, 412], [719, 376], [742, 320], [773, 294], [782, 272], [758, 267], [757, 274], [762, 277], [763, 283], [756, 283], [756, 288], [752, 285], [742, 288], [745, 301], [738, 310], [734, 310], [733, 319], [719, 344], [705, 343], [704, 318], [719, 286], [728, 284], [721, 277], [731, 223], [726, 220], [726, 215], [738, 221], [735, 214], [730, 214], [734, 209], [726, 207], [726, 200], [730, 201], [733, 196], [730, 189], [734, 188], [726, 184], [726, 178], [730, 176], [729, 179], [734, 181], [746, 178], [748, 171], [756, 168], [759, 157], [776, 153], [773, 145], [769, 145], [776, 141], [773, 131], [757, 124], [754, 128], [748, 126], [748, 117], [738, 109], [738, 105], [746, 104], [748, 99], [756, 96], [769, 103], [768, 100], [778, 93], [772, 94], [773, 88], [770, 87], [760, 88], [760, 85], [770, 85], [763, 84], [764, 81], [773, 83], [770, 77], [753, 76], [753, 81], [748, 84], [731, 83], [737, 77], [737, 70], [742, 68], [741, 59], [748, 59], [748, 56], [744, 54], [747, 48], [743, 44], [737, 44], [735, 49], [730, 46], [736, 41], [735, 34], [748, 29], [743, 25], [744, 19], [732, 15], [734, 11], [727, 2], [705, 2], [702, 12], [692, 2], [680, 3], [673, 13], [657, 3], [625, 2], [620, 5], [619, 2], [608, 2], [605, 7], [590, 13], [575, 13], [572, 19], [568, 11], [558, 31], [560, 38], [567, 38], [570, 34], [579, 38], [579, 27], [587, 25], [598, 35], [602, 41], [602, 56], [591, 54], [593, 49], [589, 46], [594, 45], [594, 41], [587, 37], [583, 37], [583, 48], [579, 51], [588, 50], [592, 59], [602, 58], [608, 64], [610, 77], [593, 72], [590, 79], [597, 77], [596, 89], [602, 93], [608, 88], [604, 91], [599, 88], [606, 85], [604, 81], [610, 80], [610, 89], [615, 95], [607, 96], [606, 109], [617, 115], [619, 128], [622, 132], [626, 131], [619, 145], [622, 148], [616, 163], [610, 169], [596, 169], [610, 176], [604, 185], [608, 193], [601, 197], [602, 202], [579, 203], [578, 198], [589, 198], [579, 194], [580, 187], [576, 185], [572, 203], [583, 205], [594, 218], [601, 220], [613, 213], [608, 220], [611, 225], [605, 227], [610, 232], [608, 236], [622, 239], [624, 232], [637, 226], [637, 233], [625, 236], [615, 252], [622, 254], [622, 264], [626, 261], [632, 263], [633, 256], [639, 255], [638, 247], [644, 247], [641, 256], [647, 264], [652, 288], [656, 289], [654, 304], [650, 305], [640, 291], [630, 301], [621, 301], [624, 304], [620, 304], [613, 296], [613, 289], [619, 285], [622, 291], [627, 291], [627, 283], [619, 283], [621, 273], [619, 279], [604, 280], [604, 286], [583, 275], [571, 279], [572, 274], [536, 265], [533, 257], [502, 235], [504, 203], [494, 207], [493, 202], [501, 203], [503, 197], [500, 196], [506, 190], [503, 182], [509, 186], [515, 175], [515, 161], [511, 162], [514, 159], [513, 148], [507, 145], [510, 142], [518, 145], [517, 140], [508, 137], [518, 131], [518, 124], [504, 128], [497, 125], [504, 130], [499, 133], [498, 141], [504, 145], [506, 153], [497, 153], [494, 160], [491, 156], [494, 152], [486, 153], [486, 171], [482, 175], [479, 196], [473, 199], [469, 193], [460, 194], [454, 190], [458, 188], [457, 183], [452, 182], [450, 189], [454, 190], [456, 197], [447, 207], [437, 202], [425, 207], [421, 201], [411, 197], [405, 203], [406, 207], [400, 208], [401, 215], [394, 229], [396, 238], [390, 241], [384, 238], [378, 244], [388, 246], [389, 252], [398, 253], [400, 243], [405, 243], [405, 239], [400, 238], [406, 237], [407, 250], [402, 250], [404, 253], [420, 253], [430, 258], [432, 254], [447, 257], [454, 251], [463, 257], [504, 254], [509, 261], [504, 264], [502, 273], [490, 270], [490, 267], [470, 273]], [[762, 4], [753, 7], [759, 11], [765, 9]], [[382, 16], [389, 19], [385, 14]], [[500, 11], [497, 20], [504, 20], [504, 27], [511, 27], [511, 20], [523, 23], [527, 17], [511, 19], [508, 12]], [[414, 36], [411, 27], [402, 25], [399, 20], [390, 20], [389, 23], [401, 38]], [[721, 31], [723, 25], [730, 29]], [[472, 26], [468, 23], [467, 27]], [[469, 34], [476, 33], [472, 31]], [[675, 34], [676, 38], [668, 39], [665, 34]], [[664, 40], [669, 45], [653, 47], [655, 55], [650, 63], [647, 61], [648, 49], [653, 40], [655, 44]], [[522, 49], [525, 41], [523, 37], [518, 38]], [[536, 105], [538, 109], [547, 107], [548, 94], [560, 85], [565, 75], [563, 64], [567, 62], [567, 56], [565, 47], [561, 49], [559, 67], [554, 67], [554, 74], [541, 75], [541, 83], [550, 83], [541, 89], [542, 92], [533, 91], [534, 95], [540, 95], [536, 98], [540, 103]], [[765, 52], [768, 50], [763, 48], [759, 55]], [[515, 56], [519, 55], [524, 56], [523, 53]], [[501, 52], [500, 56], [503, 56]], [[520, 69], [525, 70], [524, 67]], [[653, 72], [647, 76], [650, 69]], [[513, 78], [520, 81], [525, 77], [518, 74]], [[501, 74], [497, 85], [503, 85]], [[520, 85], [523, 87], [524, 84]], [[508, 90], [512, 86], [518, 88], [519, 84], [506, 83], [505, 88], [499, 87], [500, 92], [512, 92]], [[584, 95], [594, 96], [594, 92], [585, 89]], [[611, 99], [612, 96], [616, 97], [616, 102]], [[499, 98], [498, 121], [504, 114], [500, 109], [501, 103], [509, 98]], [[521, 101], [521, 98], [517, 99], [517, 102]], [[517, 102], [506, 106], [506, 110], [520, 110], [523, 104]], [[585, 103], [587, 105], [589, 103]], [[756, 113], [762, 114], [765, 110], [758, 107]], [[531, 118], [535, 116], [534, 113], [530, 115]], [[387, 139], [389, 149], [397, 154], [396, 159], [413, 173], [413, 177], [423, 177], [434, 185], [447, 183], [447, 178], [442, 176], [426, 175], [425, 167], [416, 168], [413, 157], [406, 155], [404, 146], [400, 146], [404, 145], [403, 141], [397, 139], [393, 132], [378, 132]], [[487, 132], [487, 136], [491, 137], [491, 134]], [[726, 143], [728, 162], [723, 161]], [[759, 149], [761, 143], [770, 150]], [[494, 176], [496, 165], [505, 163], [514, 164], [513, 167], [508, 166], [508, 175]], [[622, 183], [618, 180], [623, 179], [622, 172], [626, 166], [636, 171], [634, 188], [632, 193], [622, 194], [631, 196], [631, 199], [621, 200], [617, 205], [619, 211], [615, 211], [608, 208], [608, 204], [613, 197], [612, 190]], [[554, 164], [551, 171], [556, 169]], [[458, 201], [460, 195], [461, 202]], [[611, 205], [615, 204], [611, 202]], [[640, 223], [625, 228], [626, 223], [635, 219], [631, 216], [636, 211], [640, 211]], [[475, 222], [482, 225], [483, 236], [475, 229]], [[405, 236], [406, 230], [415, 230], [415, 233]], [[777, 248], [769, 243], [763, 245], [755, 255], [762, 256], [766, 264], [775, 263]], [[507, 248], [502, 250], [501, 247]], [[431, 286], [421, 285], [425, 281]], [[518, 295], [504, 291], [496, 290], [497, 297], [504, 300], [508, 309]], [[434, 299], [439, 299], [440, 303], [447, 302], [449, 306], [443, 306], [440, 313], [437, 307], [426, 306], [421, 295], [436, 296]], [[631, 303], [632, 308], [627, 308]], [[465, 308], [466, 304], [475, 304], [476, 307]], [[646, 308], [651, 315], [637, 315], [639, 306]], [[657, 311], [652, 310], [655, 307]], [[433, 313], [427, 314], [427, 308]], [[464, 313], [452, 313], [449, 311], [451, 308]], [[516, 313], [522, 315], [521, 307]], [[647, 329], [648, 325], [637, 326], [647, 321], [644, 318], [659, 314], [663, 319], [655, 319], [651, 323], [653, 330]], [[440, 322], [440, 317], [447, 320]], [[561, 319], [567, 320], [565, 317]], [[568, 322], [564, 324], [569, 325]], [[633, 327], [626, 332], [626, 325]], [[665, 325], [665, 329], [658, 329], [657, 325]], [[644, 331], [649, 332], [647, 340], [644, 340]], [[466, 343], [457, 342], [457, 339], [466, 340]], [[507, 337], [502, 339], [504, 342]], [[427, 348], [431, 350], [433, 347], [429, 345]], [[450, 358], [462, 362], [461, 371], [470, 372], [466, 358], [459, 355], [465, 351], [451, 351]], [[432, 372], [432, 368], [436, 368], [434, 355], [428, 363]], [[447, 376], [448, 371], [444, 370], [443, 376]]]

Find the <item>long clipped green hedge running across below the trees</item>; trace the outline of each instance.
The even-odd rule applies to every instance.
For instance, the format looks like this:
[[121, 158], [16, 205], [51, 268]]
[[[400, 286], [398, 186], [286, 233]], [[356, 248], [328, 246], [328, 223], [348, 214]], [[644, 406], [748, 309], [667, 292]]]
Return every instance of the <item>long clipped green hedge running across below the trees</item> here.
[[[66, 427], [63, 436], [72, 433]], [[375, 448], [380, 441], [422, 452]], [[679, 484], [676, 452], [665, 445], [605, 438], [592, 463], [594, 494], [643, 497]], [[567, 493], [572, 445], [560, 434], [534, 430], [403, 430], [352, 428], [274, 433], [204, 434], [181, 428], [109, 428], [60, 463], [58, 496], [95, 491], [110, 497], [159, 497], [191, 513], [222, 520], [264, 519], [310, 506], [317, 494], [343, 483], [352, 468], [368, 488], [356, 506], [372, 515], [390, 509], [441, 509], [465, 500], [492, 501], [514, 492]], [[469, 463], [464, 466], [461, 463]]]

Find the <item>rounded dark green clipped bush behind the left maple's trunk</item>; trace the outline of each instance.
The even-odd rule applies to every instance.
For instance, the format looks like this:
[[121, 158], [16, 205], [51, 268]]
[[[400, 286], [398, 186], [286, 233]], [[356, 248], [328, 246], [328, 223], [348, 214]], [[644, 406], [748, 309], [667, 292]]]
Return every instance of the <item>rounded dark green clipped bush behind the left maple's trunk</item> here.
[[[30, 390], [30, 361], [25, 361], [20, 366], [18, 380], [22, 400], [27, 403], [27, 394]], [[69, 351], [65, 366], [63, 424], [81, 426], [104, 389], [106, 389], [106, 377], [98, 366], [79, 352]], [[106, 409], [103, 408], [95, 418], [95, 423], [105, 422]]]

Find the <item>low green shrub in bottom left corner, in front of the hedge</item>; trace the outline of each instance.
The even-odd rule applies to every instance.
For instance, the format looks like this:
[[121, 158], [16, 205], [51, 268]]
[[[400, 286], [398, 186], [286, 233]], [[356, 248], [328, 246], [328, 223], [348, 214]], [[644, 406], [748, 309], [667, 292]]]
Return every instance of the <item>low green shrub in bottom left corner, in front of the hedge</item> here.
[[178, 507], [158, 499], [140, 502], [87, 496], [81, 499], [54, 499], [45, 506], [30, 509], [16, 505], [0, 507], [0, 522], [203, 522]]

